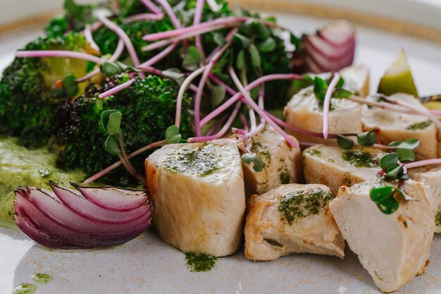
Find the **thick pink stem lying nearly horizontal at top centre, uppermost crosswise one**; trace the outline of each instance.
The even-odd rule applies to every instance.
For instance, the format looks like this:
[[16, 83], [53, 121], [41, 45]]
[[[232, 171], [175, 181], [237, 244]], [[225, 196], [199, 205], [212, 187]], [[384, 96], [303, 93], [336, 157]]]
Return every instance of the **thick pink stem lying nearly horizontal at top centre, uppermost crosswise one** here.
[[[168, 30], [166, 32], [154, 32], [153, 34], [145, 35], [144, 37], [142, 37], [142, 39], [144, 39], [144, 41], [153, 42], [153, 41], [156, 41], [159, 39], [178, 37], [180, 35], [187, 35], [189, 33], [197, 35], [197, 32], [200, 30], [210, 32], [212, 30], [218, 30], [219, 27], [220, 28], [235, 27], [237, 25], [240, 25], [240, 23], [243, 23], [244, 21], [247, 21], [249, 19], [252, 19], [252, 18], [237, 17], [237, 16], [230, 16], [230, 17], [226, 17], [226, 18], [216, 18], [215, 20], [209, 20], [205, 23], [200, 23], [199, 25], [191, 25], [189, 27], [182, 27], [177, 30]], [[206, 29], [208, 29], [208, 30], [206, 30]]]

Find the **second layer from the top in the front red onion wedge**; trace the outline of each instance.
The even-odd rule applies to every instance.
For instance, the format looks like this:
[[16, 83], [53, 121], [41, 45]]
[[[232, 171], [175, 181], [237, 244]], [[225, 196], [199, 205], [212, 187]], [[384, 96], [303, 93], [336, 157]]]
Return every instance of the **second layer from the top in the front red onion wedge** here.
[[[73, 189], [61, 188], [55, 185], [54, 182], [49, 181], [52, 190], [58, 199], [63, 202], [73, 212], [80, 214], [85, 219], [91, 221], [99, 221], [101, 223], [128, 223], [138, 219], [146, 212], [146, 207], [141, 206], [137, 209], [130, 210], [128, 212], [114, 212], [108, 209], [97, 206], [96, 204], [89, 202], [82, 194]], [[144, 200], [144, 202], [147, 198]]]

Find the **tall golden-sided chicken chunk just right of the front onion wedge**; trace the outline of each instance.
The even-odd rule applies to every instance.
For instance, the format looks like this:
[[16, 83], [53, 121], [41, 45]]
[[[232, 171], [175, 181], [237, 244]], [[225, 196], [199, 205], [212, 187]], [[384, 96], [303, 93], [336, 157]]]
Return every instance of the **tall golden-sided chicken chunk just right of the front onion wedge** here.
[[163, 240], [184, 252], [217, 257], [237, 251], [245, 192], [234, 141], [166, 145], [146, 159], [146, 173]]

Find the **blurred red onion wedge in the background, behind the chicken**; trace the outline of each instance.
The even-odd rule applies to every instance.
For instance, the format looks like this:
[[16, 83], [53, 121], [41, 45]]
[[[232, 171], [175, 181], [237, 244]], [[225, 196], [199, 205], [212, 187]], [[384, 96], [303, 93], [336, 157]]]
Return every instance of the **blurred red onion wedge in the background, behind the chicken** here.
[[304, 35], [293, 63], [298, 72], [338, 71], [352, 64], [354, 52], [354, 27], [346, 20], [338, 20], [322, 27], [316, 34]]

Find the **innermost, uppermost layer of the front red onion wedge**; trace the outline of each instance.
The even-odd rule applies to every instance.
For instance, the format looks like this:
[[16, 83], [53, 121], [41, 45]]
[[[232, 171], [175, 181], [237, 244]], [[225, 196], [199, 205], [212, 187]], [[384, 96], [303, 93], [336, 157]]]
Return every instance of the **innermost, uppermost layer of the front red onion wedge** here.
[[120, 189], [111, 186], [82, 187], [71, 183], [90, 202], [114, 212], [128, 212], [141, 207], [146, 202], [143, 191]]

